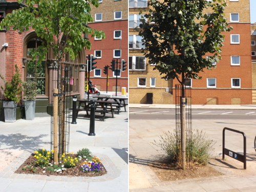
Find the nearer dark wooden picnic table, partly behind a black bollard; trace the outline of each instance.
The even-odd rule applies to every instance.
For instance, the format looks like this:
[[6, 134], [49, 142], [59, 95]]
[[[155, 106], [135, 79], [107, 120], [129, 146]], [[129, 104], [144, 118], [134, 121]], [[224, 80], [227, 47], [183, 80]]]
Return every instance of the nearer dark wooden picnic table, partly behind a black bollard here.
[[[92, 100], [88, 99], [77, 99], [79, 102], [78, 108], [76, 111], [76, 116], [78, 116], [79, 111], [86, 111], [87, 115], [89, 115], [89, 111], [91, 111], [91, 103]], [[114, 109], [113, 109], [113, 104], [116, 104], [116, 101], [104, 101], [104, 100], [96, 100], [95, 101], [95, 112], [99, 112], [102, 114], [102, 120], [104, 121], [105, 114], [106, 113], [111, 113], [112, 118], [114, 118]], [[83, 106], [82, 106], [83, 105]]]

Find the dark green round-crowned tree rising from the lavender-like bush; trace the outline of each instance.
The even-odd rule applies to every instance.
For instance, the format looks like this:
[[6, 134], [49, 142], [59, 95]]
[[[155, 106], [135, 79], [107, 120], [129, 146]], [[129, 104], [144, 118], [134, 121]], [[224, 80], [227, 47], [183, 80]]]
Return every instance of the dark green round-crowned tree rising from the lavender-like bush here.
[[[215, 68], [212, 63], [221, 59], [224, 42], [221, 32], [232, 29], [224, 17], [226, 6], [225, 0], [151, 0], [148, 13], [141, 19], [139, 35], [145, 57], [156, 64], [154, 70], [164, 74], [163, 78], [176, 78], [180, 82], [182, 98], [186, 80], [200, 79], [199, 72]], [[211, 14], [204, 14], [206, 9]], [[206, 53], [212, 56], [205, 57]], [[181, 140], [185, 135], [182, 109], [181, 105]]]

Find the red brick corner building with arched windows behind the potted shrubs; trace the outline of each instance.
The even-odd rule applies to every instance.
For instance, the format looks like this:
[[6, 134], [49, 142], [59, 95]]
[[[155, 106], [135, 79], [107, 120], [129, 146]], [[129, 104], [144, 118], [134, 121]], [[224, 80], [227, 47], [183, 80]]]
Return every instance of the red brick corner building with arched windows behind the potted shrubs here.
[[[12, 10], [24, 7], [23, 4], [18, 4], [12, 0], [0, 1], [0, 22]], [[0, 31], [0, 73], [7, 81], [10, 81], [14, 72], [15, 64], [18, 66], [20, 73], [22, 73], [22, 80], [37, 78], [37, 96], [36, 96], [36, 113], [50, 113], [53, 70], [56, 69], [56, 60], [53, 51], [49, 50], [46, 59], [40, 65], [37, 59], [32, 61], [31, 51], [37, 49], [42, 44], [42, 39], [36, 36], [33, 29], [19, 33], [12, 29]], [[86, 76], [86, 50], [78, 53], [78, 56], [71, 60], [69, 54], [66, 54], [61, 66], [67, 66], [69, 73], [66, 86], [69, 87], [71, 95], [77, 95], [78, 98], [84, 98], [84, 78]], [[38, 76], [35, 76], [35, 74]], [[0, 86], [4, 86], [4, 82], [0, 80]], [[3, 91], [0, 90], [0, 99], [4, 99]], [[17, 118], [18, 117], [17, 115]], [[0, 119], [3, 119], [2, 100], [0, 100]]]

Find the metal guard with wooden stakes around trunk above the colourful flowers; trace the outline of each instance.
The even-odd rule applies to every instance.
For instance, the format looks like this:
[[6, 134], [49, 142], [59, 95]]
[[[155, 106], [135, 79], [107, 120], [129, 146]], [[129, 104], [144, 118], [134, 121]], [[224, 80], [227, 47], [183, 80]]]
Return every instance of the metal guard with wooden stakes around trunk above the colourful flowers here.
[[[60, 70], [60, 71], [59, 71]], [[63, 153], [69, 152], [69, 137], [71, 117], [69, 115], [71, 109], [71, 83], [72, 70], [70, 65], [60, 63], [59, 67], [55, 60], [55, 65], [51, 67], [49, 75], [51, 75], [51, 150], [54, 150], [57, 157], [54, 156], [54, 162]], [[60, 76], [60, 78], [59, 78]], [[58, 80], [60, 79], [60, 80]], [[59, 89], [60, 88], [60, 89]], [[54, 111], [54, 101], [57, 100], [57, 109]], [[57, 119], [54, 118], [54, 113], [57, 113]], [[56, 125], [57, 123], [57, 125]], [[55, 126], [55, 127], [54, 127]], [[57, 126], [57, 127], [56, 127]], [[57, 141], [56, 141], [57, 139]], [[54, 155], [55, 155], [54, 154]], [[57, 158], [57, 159], [56, 159]], [[56, 163], [57, 163], [56, 162]]]

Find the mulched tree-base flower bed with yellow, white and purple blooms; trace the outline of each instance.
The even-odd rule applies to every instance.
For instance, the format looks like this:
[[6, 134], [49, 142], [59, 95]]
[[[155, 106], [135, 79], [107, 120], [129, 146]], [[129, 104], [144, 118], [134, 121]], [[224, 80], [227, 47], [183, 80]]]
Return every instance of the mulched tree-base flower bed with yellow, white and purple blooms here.
[[[86, 150], [86, 156], [84, 152]], [[52, 163], [53, 151], [37, 150], [17, 170], [17, 174], [37, 174], [55, 176], [95, 177], [106, 174], [106, 170], [98, 157], [90, 151], [82, 149], [77, 154], [62, 154], [59, 163]]]

